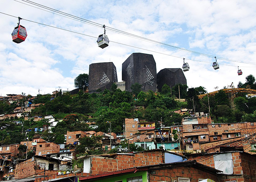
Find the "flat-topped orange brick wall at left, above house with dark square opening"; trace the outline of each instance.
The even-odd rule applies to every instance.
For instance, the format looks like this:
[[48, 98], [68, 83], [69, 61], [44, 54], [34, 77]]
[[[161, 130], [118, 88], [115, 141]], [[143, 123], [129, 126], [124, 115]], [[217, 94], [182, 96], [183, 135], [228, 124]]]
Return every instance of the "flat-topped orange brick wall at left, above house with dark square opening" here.
[[37, 142], [35, 155], [54, 154], [60, 152], [60, 146], [53, 142]]

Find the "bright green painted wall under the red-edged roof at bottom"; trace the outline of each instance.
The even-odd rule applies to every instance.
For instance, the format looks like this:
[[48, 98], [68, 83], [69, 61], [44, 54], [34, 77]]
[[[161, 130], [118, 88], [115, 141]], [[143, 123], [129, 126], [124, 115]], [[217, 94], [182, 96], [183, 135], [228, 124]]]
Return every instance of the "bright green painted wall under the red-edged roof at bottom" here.
[[137, 176], [142, 176], [142, 181], [147, 182], [147, 171], [141, 171], [141, 172], [136, 172], [136, 173], [131, 173], [131, 174], [125, 174], [121, 176], [116, 176], [112, 178], [105, 178], [105, 179], [99, 179], [97, 181], [104, 181], [104, 182], [115, 182], [115, 181], [123, 181], [127, 182], [127, 178], [132, 178], [132, 177], [137, 177]]

